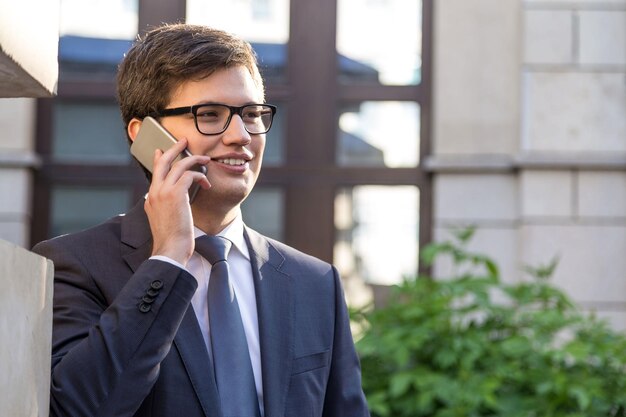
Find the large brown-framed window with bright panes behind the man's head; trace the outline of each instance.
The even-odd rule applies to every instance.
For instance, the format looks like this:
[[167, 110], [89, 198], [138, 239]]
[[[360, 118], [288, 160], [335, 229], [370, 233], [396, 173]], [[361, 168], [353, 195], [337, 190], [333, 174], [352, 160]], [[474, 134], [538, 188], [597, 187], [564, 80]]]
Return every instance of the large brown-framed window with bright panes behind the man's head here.
[[[140, 32], [186, 20], [252, 43], [279, 112], [243, 205], [250, 226], [335, 262], [350, 279], [389, 284], [417, 272], [419, 244], [431, 234], [421, 161], [430, 138], [432, 0], [94, 2], [126, 13], [124, 21], [136, 11]], [[96, 39], [82, 47], [102, 52], [91, 60], [73, 55], [84, 34], [65, 33], [59, 96], [39, 101], [33, 243], [114, 215], [146, 189], [125, 154], [114, 100], [115, 67], [133, 30], [88, 32]], [[406, 262], [394, 270], [372, 263], [372, 251], [388, 249], [381, 236], [402, 248]]]

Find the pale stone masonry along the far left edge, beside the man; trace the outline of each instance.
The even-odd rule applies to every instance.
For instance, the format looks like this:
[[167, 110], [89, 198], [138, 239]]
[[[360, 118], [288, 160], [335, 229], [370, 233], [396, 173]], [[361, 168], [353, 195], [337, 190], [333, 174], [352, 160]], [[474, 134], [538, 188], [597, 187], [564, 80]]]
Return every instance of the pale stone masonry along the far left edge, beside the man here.
[[[58, 81], [59, 5], [0, 0], [0, 417], [50, 409], [52, 262], [28, 246], [34, 103]], [[10, 97], [7, 99], [6, 97]]]

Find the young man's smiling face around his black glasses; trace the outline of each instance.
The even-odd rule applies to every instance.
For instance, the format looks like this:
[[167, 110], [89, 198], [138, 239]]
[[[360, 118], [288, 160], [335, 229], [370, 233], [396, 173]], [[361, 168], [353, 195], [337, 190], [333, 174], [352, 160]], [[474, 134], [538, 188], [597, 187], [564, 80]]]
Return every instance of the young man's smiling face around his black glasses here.
[[[261, 89], [245, 67], [216, 71], [200, 81], [184, 82], [174, 91], [167, 108], [201, 103], [230, 106], [262, 103]], [[169, 116], [161, 124], [177, 139], [187, 138], [194, 155], [208, 155], [209, 190], [200, 190], [194, 205], [221, 204], [234, 207], [252, 191], [261, 170], [265, 134], [248, 133], [239, 115], [234, 114], [224, 133], [206, 136], [196, 129], [193, 115]], [[243, 162], [243, 163], [242, 163]]]

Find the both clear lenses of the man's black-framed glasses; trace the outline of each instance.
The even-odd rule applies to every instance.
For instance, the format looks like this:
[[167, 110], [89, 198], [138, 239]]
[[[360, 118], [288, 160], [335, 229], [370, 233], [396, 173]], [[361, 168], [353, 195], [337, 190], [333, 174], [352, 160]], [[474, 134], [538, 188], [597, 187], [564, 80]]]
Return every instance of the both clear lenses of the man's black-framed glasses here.
[[[196, 111], [198, 130], [209, 135], [223, 132], [228, 128], [232, 119], [231, 113], [234, 111], [221, 104], [207, 104], [198, 107]], [[244, 106], [240, 115], [248, 133], [266, 133], [272, 125], [272, 109], [268, 106]]]

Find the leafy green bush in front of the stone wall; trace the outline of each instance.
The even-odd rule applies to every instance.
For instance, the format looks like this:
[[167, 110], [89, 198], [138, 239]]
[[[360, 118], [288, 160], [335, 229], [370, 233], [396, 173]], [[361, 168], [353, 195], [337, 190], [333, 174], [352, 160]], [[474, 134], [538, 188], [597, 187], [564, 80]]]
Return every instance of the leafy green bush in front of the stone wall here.
[[626, 416], [626, 337], [549, 283], [556, 261], [501, 282], [466, 250], [472, 232], [423, 250], [455, 276], [405, 280], [385, 307], [353, 312], [372, 415]]

